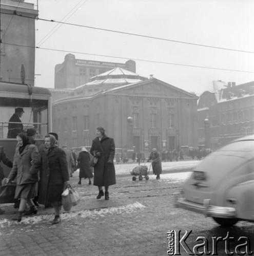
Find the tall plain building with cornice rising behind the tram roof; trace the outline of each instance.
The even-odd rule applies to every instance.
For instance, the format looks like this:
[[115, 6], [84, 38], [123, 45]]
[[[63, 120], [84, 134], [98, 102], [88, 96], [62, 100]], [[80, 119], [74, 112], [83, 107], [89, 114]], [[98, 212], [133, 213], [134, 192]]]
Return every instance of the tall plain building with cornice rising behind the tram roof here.
[[34, 86], [35, 18], [38, 10], [24, 0], [1, 0], [0, 8], [0, 80]]

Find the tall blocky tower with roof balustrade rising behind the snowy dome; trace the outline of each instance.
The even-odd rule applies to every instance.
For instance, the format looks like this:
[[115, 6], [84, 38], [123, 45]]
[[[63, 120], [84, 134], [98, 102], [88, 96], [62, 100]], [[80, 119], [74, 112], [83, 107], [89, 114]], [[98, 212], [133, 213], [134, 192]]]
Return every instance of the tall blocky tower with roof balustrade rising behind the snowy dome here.
[[125, 63], [106, 62], [86, 59], [76, 59], [73, 54], [67, 54], [64, 62], [55, 66], [55, 89], [72, 89], [89, 82], [91, 77], [109, 71], [113, 68], [123, 68], [136, 72], [136, 63], [128, 60]]

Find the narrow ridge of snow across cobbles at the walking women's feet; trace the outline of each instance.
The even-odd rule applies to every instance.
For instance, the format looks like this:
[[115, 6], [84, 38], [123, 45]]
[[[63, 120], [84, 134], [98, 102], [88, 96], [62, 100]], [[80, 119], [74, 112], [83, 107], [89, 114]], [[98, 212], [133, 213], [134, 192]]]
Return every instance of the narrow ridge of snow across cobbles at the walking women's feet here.
[[[96, 218], [100, 216], [105, 216], [106, 214], [132, 214], [132, 212], [135, 212], [139, 209], [146, 208], [143, 204], [139, 202], [135, 202], [132, 204], [127, 204], [123, 206], [118, 207], [109, 207], [109, 208], [100, 208], [100, 209], [94, 209], [94, 210], [79, 210], [75, 212], [64, 212], [61, 214], [62, 220], [70, 220], [76, 217], [79, 218]], [[37, 224], [43, 221], [52, 221], [53, 215], [36, 215], [32, 217], [23, 217], [22, 218], [22, 224]], [[15, 221], [10, 221], [7, 219], [0, 220], [0, 228], [9, 226], [13, 224], [19, 224]], [[0, 233], [1, 234], [1, 233]]]

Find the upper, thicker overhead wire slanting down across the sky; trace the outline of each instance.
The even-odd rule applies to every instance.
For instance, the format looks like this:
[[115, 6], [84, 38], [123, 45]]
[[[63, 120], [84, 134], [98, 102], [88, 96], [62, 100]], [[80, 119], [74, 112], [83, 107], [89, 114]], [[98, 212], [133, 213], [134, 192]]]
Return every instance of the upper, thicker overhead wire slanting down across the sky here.
[[[2, 13], [2, 12], [0, 12], [0, 13]], [[10, 14], [10, 13], [2, 13], [2, 14]], [[25, 18], [33, 18], [33, 17], [28, 17], [28, 16], [24, 16], [24, 15], [19, 15], [19, 14], [15, 14], [15, 15], [18, 15], [18, 16], [21, 16], [21, 17], [25, 17]], [[157, 40], [164, 40], [164, 41], [177, 42], [177, 43], [186, 44], [186, 45], [193, 45], [193, 46], [200, 46], [200, 47], [208, 47], [208, 48], [219, 49], [219, 50], [226, 50], [226, 51], [236, 51], [236, 52], [244, 52], [244, 53], [254, 53], [254, 52], [252, 52], [252, 51], [245, 51], [245, 50], [230, 49], [230, 48], [217, 47], [217, 46], [202, 45], [202, 44], [196, 44], [196, 43], [193, 43], [193, 42], [185, 42], [185, 41], [173, 40], [173, 39], [162, 38], [162, 37], [141, 35], [141, 34], [123, 32], [123, 31], [118, 31], [118, 30], [111, 30], [111, 29], [103, 29], [103, 28], [85, 26], [85, 25], [80, 25], [80, 24], [73, 24], [73, 23], [66, 23], [66, 22], [58, 22], [57, 20], [53, 20], [53, 19], [37, 18], [37, 20], [43, 20], [43, 21], [46, 21], [46, 22], [55, 22], [55, 23], [60, 23], [60, 24], [65, 24], [65, 25], [71, 25], [71, 26], [83, 27], [83, 28], [89, 28], [89, 29], [96, 29], [96, 30], [102, 30], [102, 31], [113, 32], [113, 33], [120, 33], [120, 34], [132, 35], [132, 36], [145, 37], [145, 38], [150, 38], [150, 39], [157, 39]]]

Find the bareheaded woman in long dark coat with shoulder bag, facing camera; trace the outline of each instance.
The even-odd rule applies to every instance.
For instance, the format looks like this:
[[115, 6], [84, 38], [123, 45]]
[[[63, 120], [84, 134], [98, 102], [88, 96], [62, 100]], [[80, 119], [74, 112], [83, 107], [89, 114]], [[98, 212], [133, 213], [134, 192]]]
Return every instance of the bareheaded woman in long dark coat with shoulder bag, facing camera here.
[[98, 127], [96, 130], [97, 137], [93, 139], [90, 153], [98, 158], [96, 165], [93, 168], [94, 179], [93, 185], [98, 186], [99, 194], [97, 199], [104, 196], [102, 187], [105, 187], [105, 200], [109, 200], [108, 186], [116, 184], [115, 169], [114, 169], [114, 140], [105, 134], [103, 127]]

